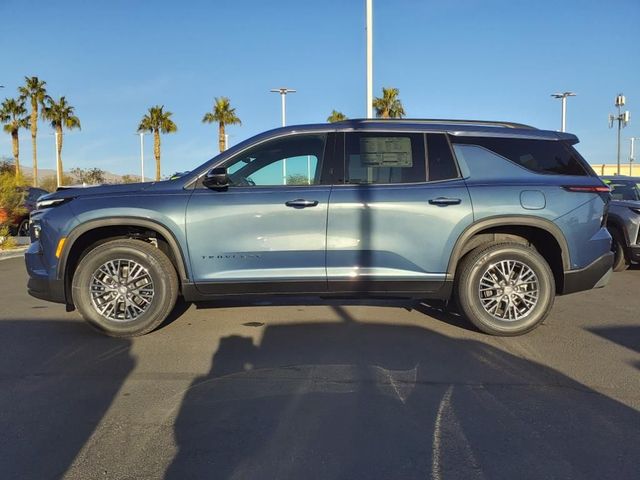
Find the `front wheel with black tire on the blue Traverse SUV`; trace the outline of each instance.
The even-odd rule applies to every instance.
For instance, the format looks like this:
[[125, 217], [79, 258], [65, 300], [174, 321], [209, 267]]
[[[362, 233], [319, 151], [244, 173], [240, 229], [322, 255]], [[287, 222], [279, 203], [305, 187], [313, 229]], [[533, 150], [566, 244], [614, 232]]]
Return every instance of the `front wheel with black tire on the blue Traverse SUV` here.
[[[100, 279], [94, 277], [94, 273], [110, 261], [114, 261], [111, 265], [117, 265], [121, 273], [115, 276], [101, 273], [102, 277], [98, 275]], [[122, 264], [127, 266], [120, 267]], [[132, 298], [136, 299], [137, 309], [141, 311], [134, 308], [129, 293], [126, 296], [130, 307], [124, 310], [119, 308], [122, 307], [121, 301], [110, 300], [102, 303], [104, 298], [112, 299], [114, 296], [124, 300], [124, 292], [127, 291], [125, 283], [129, 280], [130, 272], [135, 271], [132, 266], [136, 264], [144, 270], [138, 273], [138, 286], [134, 284], [131, 287], [137, 287], [138, 291], [132, 290], [131, 295], [134, 295]], [[122, 272], [126, 273], [126, 279], [122, 278]], [[114, 280], [116, 277], [122, 280], [122, 283], [117, 283]], [[102, 297], [96, 299], [96, 294], [92, 294], [92, 283], [93, 291], [103, 295]], [[139, 286], [140, 284], [142, 286]], [[103, 286], [108, 287], [111, 293]], [[121, 290], [122, 287], [125, 287], [124, 291]], [[141, 288], [145, 290], [144, 294], [139, 293]], [[82, 258], [73, 276], [72, 292], [78, 311], [93, 327], [112, 337], [135, 337], [149, 333], [167, 318], [178, 297], [178, 277], [171, 260], [155, 246], [142, 240], [112, 240], [90, 250]], [[146, 300], [141, 299], [141, 295], [146, 295]], [[105, 307], [107, 313], [103, 314], [99, 311], [98, 304], [107, 303], [116, 307]], [[129, 314], [131, 318], [127, 318]], [[133, 317], [133, 314], [137, 316]]]

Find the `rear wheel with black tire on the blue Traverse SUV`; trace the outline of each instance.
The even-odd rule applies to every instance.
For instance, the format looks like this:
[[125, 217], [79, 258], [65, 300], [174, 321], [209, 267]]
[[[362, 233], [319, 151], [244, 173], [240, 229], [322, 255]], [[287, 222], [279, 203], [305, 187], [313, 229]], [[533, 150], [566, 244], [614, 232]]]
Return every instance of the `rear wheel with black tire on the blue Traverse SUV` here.
[[[530, 302], [533, 303], [532, 306], [526, 305], [521, 299], [526, 294], [528, 295], [528, 300], [531, 300], [531, 292], [527, 292], [526, 289], [533, 288], [535, 285], [532, 283], [523, 283], [515, 291], [515, 286], [510, 286], [508, 282], [504, 287], [498, 287], [499, 289], [501, 288], [500, 290], [481, 291], [483, 276], [485, 274], [491, 276], [492, 273], [495, 273], [495, 269], [492, 269], [492, 267], [500, 261], [514, 262], [514, 275], [517, 272], [524, 272], [523, 266], [526, 266], [535, 274], [531, 278], [537, 282], [535, 284], [537, 285], [537, 299], [535, 302]], [[460, 311], [485, 333], [499, 336], [522, 335], [540, 325], [553, 306], [556, 291], [553, 272], [545, 259], [532, 247], [519, 243], [499, 243], [488, 247], [478, 247], [462, 259], [458, 272], [456, 295]], [[482, 280], [483, 287], [487, 284], [487, 277], [484, 278], [485, 280]], [[495, 278], [504, 283], [505, 277], [496, 276]], [[495, 283], [497, 285], [498, 280]], [[505, 296], [502, 296], [503, 294]], [[484, 295], [487, 295], [487, 297], [500, 297], [500, 299], [495, 300], [495, 303], [489, 303], [492, 302], [489, 298], [481, 300], [481, 296]], [[502, 299], [506, 298], [508, 298], [508, 301], [513, 299], [513, 309], [504, 308], [508, 304], [504, 303], [507, 300]], [[485, 305], [490, 305], [490, 307], [483, 306], [483, 302], [485, 302]], [[501, 306], [496, 307], [496, 314], [494, 315], [489, 310], [496, 303]], [[513, 317], [522, 314], [522, 316], [520, 318], [503, 319], [500, 318], [501, 314], [508, 314]]]

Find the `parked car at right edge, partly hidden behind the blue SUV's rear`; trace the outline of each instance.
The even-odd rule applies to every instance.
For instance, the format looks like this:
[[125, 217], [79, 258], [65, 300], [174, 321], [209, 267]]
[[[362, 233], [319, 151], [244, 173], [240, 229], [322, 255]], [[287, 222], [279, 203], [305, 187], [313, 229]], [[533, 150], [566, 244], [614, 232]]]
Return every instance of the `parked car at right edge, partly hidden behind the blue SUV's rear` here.
[[611, 188], [607, 228], [613, 237], [613, 270], [640, 263], [640, 177], [602, 177]]

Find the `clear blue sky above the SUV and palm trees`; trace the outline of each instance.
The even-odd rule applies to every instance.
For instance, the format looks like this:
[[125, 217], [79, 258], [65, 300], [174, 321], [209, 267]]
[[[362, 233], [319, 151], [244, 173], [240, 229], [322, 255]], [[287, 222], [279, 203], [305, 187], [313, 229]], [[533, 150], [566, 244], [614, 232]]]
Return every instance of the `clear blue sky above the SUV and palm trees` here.
[[[217, 129], [202, 124], [215, 96], [243, 121], [230, 143], [279, 126], [280, 99], [298, 90], [287, 123], [324, 121], [332, 109], [365, 116], [364, 0], [0, 0], [0, 97], [25, 75], [76, 107], [80, 132], [65, 136], [65, 170], [138, 173], [134, 135], [149, 106], [164, 104], [179, 131], [163, 136], [163, 174], [217, 154]], [[35, 28], [31, 34], [30, 28]], [[374, 0], [374, 92], [400, 89], [414, 118], [511, 120], [567, 128], [591, 163], [614, 162], [607, 115], [618, 92], [640, 136], [640, 2]], [[0, 156], [10, 156], [0, 136]], [[624, 159], [628, 141], [623, 144]], [[51, 129], [40, 124], [41, 168], [54, 168]], [[152, 171], [151, 141], [146, 172]], [[28, 132], [21, 159], [31, 163]]]

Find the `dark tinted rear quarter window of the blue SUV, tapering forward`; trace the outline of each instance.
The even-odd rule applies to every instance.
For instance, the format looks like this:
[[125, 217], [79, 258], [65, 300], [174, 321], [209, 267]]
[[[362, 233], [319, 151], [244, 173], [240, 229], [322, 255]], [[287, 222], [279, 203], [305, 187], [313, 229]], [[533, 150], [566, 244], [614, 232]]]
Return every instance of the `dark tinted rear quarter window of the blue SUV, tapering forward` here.
[[591, 168], [568, 143], [559, 140], [532, 140], [506, 137], [451, 138], [454, 144], [476, 145], [490, 150], [535, 173], [550, 175], [591, 175]]

